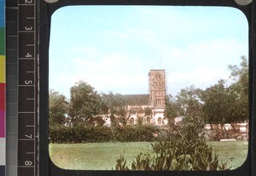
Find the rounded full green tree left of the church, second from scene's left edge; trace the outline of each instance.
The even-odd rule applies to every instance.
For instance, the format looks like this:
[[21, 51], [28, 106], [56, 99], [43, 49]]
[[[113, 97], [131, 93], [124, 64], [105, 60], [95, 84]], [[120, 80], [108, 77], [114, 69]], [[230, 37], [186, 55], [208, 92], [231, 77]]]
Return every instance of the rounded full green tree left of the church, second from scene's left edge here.
[[73, 125], [86, 124], [101, 111], [102, 98], [88, 83], [79, 81], [70, 88], [69, 115]]

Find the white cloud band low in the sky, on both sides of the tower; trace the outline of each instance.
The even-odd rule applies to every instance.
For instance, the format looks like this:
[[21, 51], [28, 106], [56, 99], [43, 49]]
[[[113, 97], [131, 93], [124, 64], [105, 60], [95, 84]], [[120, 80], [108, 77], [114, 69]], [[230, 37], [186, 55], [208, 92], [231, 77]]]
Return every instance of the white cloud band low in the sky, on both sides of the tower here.
[[[240, 63], [242, 51], [247, 50], [235, 41], [215, 41], [212, 43], [191, 43], [188, 48], [156, 48], [160, 60], [132, 58], [129, 54], [101, 53], [96, 48], [76, 49], [72, 62], [50, 75], [52, 88], [69, 90], [74, 82], [84, 80], [98, 92], [113, 91], [121, 94], [147, 94], [148, 71], [164, 68], [167, 72], [168, 92], [176, 94], [181, 88], [195, 85], [207, 88], [221, 78], [228, 78], [228, 65]], [[68, 91], [65, 90], [66, 94]]]

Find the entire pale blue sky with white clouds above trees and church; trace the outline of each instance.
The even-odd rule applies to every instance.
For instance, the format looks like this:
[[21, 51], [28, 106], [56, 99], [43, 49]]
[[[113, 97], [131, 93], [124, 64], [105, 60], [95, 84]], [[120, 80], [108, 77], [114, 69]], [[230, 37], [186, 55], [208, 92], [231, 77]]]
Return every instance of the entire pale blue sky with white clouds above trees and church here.
[[69, 97], [84, 80], [98, 93], [148, 94], [148, 72], [165, 69], [167, 94], [228, 79], [248, 56], [248, 24], [238, 9], [70, 6], [52, 15], [49, 88]]

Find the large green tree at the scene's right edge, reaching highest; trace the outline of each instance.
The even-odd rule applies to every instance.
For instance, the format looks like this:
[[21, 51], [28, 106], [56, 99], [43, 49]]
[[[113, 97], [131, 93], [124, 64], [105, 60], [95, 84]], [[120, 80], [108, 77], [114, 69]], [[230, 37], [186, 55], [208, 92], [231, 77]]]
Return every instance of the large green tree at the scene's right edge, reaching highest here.
[[[241, 56], [240, 65], [229, 65], [230, 85], [224, 80], [203, 92], [203, 114], [206, 122], [212, 124], [241, 122], [248, 119], [248, 63]], [[232, 125], [234, 128], [234, 126]], [[235, 128], [234, 128], [235, 129]]]

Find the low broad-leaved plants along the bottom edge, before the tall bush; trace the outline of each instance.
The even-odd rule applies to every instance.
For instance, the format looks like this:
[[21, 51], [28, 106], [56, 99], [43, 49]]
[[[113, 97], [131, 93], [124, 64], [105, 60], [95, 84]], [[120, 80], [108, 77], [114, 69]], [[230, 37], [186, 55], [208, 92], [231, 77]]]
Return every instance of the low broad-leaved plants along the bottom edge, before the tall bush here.
[[227, 164], [218, 162], [218, 156], [212, 154], [212, 148], [206, 150], [195, 149], [192, 155], [177, 155], [177, 148], [169, 152], [161, 152], [154, 156], [139, 153], [131, 163], [131, 168], [126, 166], [124, 156], [117, 160], [116, 170], [227, 170]]

